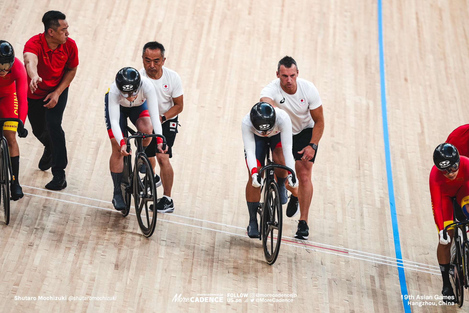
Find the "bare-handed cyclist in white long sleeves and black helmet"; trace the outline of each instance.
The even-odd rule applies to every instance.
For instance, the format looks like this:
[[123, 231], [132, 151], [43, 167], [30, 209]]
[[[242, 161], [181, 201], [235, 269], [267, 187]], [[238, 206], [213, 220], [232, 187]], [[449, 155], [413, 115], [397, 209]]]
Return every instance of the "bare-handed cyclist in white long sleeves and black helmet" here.
[[[122, 134], [125, 121], [129, 117], [137, 130], [143, 133], [151, 134], [154, 129], [155, 134], [161, 134], [158, 99], [153, 84], [133, 68], [123, 68], [117, 73], [104, 99], [106, 128], [113, 148], [109, 160], [114, 183], [113, 205], [116, 210], [123, 210], [126, 207], [121, 192], [123, 156], [129, 155]], [[144, 149], [150, 141], [151, 137], [142, 140]], [[167, 147], [163, 151], [162, 145], [162, 139], [158, 137], [158, 149], [165, 153]]]

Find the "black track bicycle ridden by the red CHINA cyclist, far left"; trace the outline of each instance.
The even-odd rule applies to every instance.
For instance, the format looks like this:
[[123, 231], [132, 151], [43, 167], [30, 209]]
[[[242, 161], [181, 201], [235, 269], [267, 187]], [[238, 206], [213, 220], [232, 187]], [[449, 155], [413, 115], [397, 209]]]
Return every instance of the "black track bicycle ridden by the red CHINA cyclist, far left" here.
[[[17, 130], [24, 129], [23, 122], [19, 118], [0, 118], [0, 123], [18, 122]], [[0, 127], [0, 192], [1, 204], [3, 206], [3, 216], [5, 224], [10, 222], [10, 183], [13, 182], [13, 171], [11, 169], [10, 151], [8, 150], [8, 142], [3, 135], [3, 127]], [[18, 179], [18, 177], [15, 177]]]

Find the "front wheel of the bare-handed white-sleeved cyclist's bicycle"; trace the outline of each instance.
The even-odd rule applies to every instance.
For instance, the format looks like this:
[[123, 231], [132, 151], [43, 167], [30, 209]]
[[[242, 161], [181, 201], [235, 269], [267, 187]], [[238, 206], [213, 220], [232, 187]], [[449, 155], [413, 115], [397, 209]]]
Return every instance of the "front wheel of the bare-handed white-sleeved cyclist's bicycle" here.
[[[140, 168], [145, 164], [145, 174]], [[156, 208], [156, 188], [153, 168], [145, 155], [137, 158], [134, 169], [134, 201], [138, 225], [145, 237], [150, 237], [155, 231], [157, 210], [150, 210], [150, 205]]]

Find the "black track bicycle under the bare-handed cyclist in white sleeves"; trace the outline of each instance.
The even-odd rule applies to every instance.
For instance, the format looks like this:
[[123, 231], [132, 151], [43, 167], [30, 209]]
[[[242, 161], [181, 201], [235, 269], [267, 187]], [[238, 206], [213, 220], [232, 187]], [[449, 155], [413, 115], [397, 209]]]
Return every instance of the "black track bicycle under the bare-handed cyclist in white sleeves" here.
[[[129, 133], [132, 135], [129, 137]], [[162, 135], [150, 134], [132, 130], [125, 125], [124, 137], [127, 137], [127, 153], [130, 153], [130, 139], [135, 139], [137, 147], [134, 168], [132, 169], [132, 155], [124, 156], [124, 168], [122, 171], [121, 190], [126, 208], [121, 210], [123, 216], [129, 215], [132, 195], [134, 196], [135, 213], [138, 226], [145, 237], [153, 235], [156, 227], [157, 210], [151, 210], [149, 202], [156, 207], [156, 186], [153, 167], [144, 153], [142, 139], [148, 137], [160, 137], [163, 139], [163, 150], [166, 149], [166, 139]], [[145, 174], [140, 173], [140, 168], [146, 167]], [[143, 175], [143, 177], [141, 177]], [[142, 213], [144, 214], [142, 216]]]

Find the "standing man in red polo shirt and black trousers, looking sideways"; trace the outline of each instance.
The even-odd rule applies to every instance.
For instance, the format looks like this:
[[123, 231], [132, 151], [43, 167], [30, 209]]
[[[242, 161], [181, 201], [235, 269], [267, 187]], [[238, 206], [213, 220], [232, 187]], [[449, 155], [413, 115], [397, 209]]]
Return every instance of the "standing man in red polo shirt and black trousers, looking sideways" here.
[[42, 23], [44, 33], [30, 38], [23, 50], [31, 92], [28, 92], [28, 118], [34, 136], [45, 147], [39, 169], [45, 171], [52, 167], [53, 179], [45, 188], [62, 190], [67, 187], [68, 161], [61, 124], [68, 85], [78, 66], [78, 49], [75, 41], [68, 38], [68, 23], [63, 13], [48, 11]]

